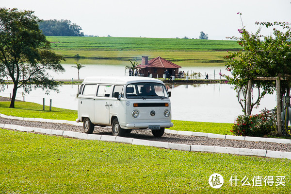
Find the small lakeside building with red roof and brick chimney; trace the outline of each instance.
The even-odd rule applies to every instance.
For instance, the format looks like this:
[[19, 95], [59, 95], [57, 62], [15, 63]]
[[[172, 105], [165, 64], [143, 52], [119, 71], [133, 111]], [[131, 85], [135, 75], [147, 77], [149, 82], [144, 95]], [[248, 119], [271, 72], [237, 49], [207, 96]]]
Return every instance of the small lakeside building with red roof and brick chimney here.
[[147, 56], [143, 56], [142, 63], [139, 64], [137, 67], [139, 69], [140, 75], [147, 77], [149, 72], [154, 78], [156, 78], [157, 75], [159, 75], [159, 77], [162, 77], [162, 75], [165, 74], [166, 70], [168, 70], [169, 76], [176, 77], [176, 75], [179, 73], [179, 68], [181, 68], [181, 66], [178, 66], [175, 63], [163, 59], [160, 56], [150, 61], [148, 61]]

